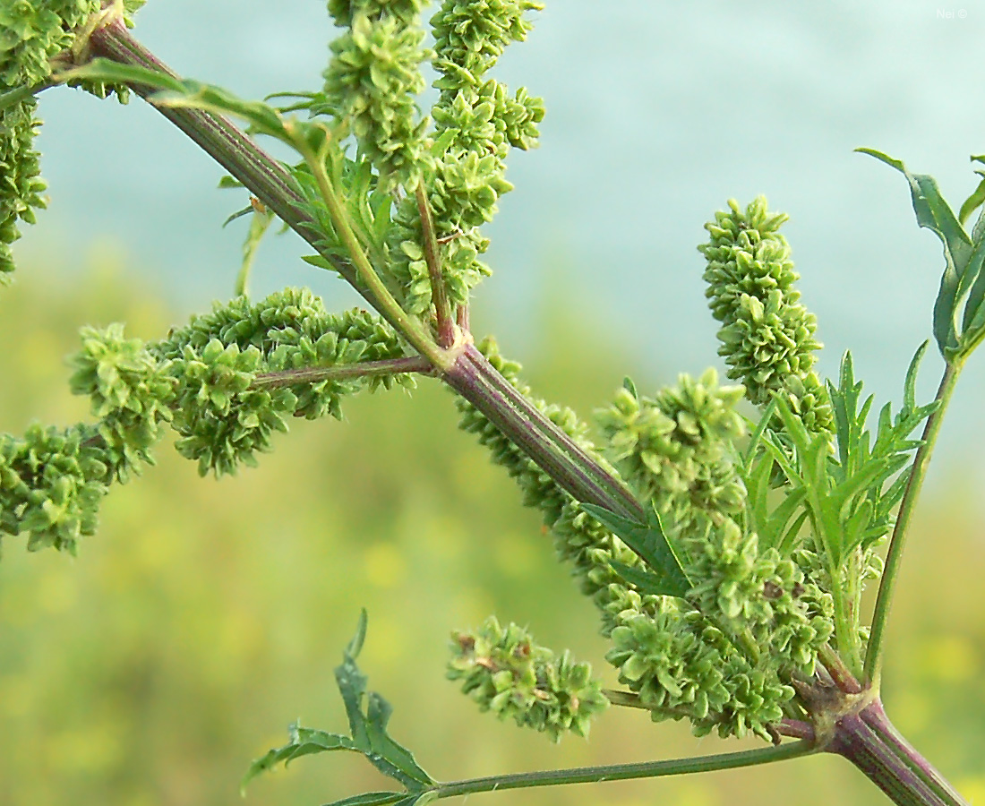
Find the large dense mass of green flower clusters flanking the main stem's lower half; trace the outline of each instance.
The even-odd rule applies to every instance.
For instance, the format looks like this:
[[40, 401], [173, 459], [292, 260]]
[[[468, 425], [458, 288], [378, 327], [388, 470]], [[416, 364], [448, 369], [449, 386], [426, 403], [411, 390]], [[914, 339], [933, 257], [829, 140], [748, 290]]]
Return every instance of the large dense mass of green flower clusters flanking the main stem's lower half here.
[[[493, 367], [529, 396], [518, 366], [485, 343]], [[641, 560], [470, 404], [462, 428], [476, 433], [539, 508], [582, 590], [602, 611], [613, 641], [607, 659], [654, 720], [687, 718], [694, 731], [769, 736], [794, 696], [789, 679], [813, 674], [830, 638], [830, 596], [775, 548], [760, 550], [734, 441], [743, 436], [733, 407], [741, 387], [719, 387], [713, 371], [653, 398], [631, 383], [600, 412], [605, 455], [615, 475], [653, 502], [680, 548], [691, 588], [686, 599], [638, 590], [617, 569]], [[535, 401], [584, 449], [594, 448], [573, 412]], [[605, 460], [601, 460], [607, 466]], [[614, 564], [615, 567], [614, 567]]]

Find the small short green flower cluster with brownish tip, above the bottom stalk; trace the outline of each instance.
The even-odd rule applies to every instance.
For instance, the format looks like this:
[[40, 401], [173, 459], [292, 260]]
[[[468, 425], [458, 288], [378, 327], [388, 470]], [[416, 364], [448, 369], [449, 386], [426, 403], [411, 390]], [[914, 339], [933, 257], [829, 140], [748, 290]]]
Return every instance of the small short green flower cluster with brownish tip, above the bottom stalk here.
[[593, 716], [609, 707], [588, 663], [559, 657], [534, 643], [526, 630], [501, 627], [494, 616], [481, 629], [452, 635], [449, 680], [482, 710], [521, 727], [546, 732], [554, 741], [571, 731], [587, 736]]

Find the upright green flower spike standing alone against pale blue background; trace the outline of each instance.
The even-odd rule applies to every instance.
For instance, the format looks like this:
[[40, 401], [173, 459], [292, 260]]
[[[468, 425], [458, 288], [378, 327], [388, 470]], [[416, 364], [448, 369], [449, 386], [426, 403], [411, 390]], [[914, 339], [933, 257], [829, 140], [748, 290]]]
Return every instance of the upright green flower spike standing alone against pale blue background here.
[[798, 302], [799, 275], [779, 234], [787, 216], [770, 213], [762, 196], [745, 211], [734, 200], [729, 208], [705, 225], [710, 238], [698, 246], [707, 260], [708, 306], [722, 323], [718, 354], [756, 405], [780, 393], [809, 430], [830, 431], [830, 401], [813, 369], [817, 319]]

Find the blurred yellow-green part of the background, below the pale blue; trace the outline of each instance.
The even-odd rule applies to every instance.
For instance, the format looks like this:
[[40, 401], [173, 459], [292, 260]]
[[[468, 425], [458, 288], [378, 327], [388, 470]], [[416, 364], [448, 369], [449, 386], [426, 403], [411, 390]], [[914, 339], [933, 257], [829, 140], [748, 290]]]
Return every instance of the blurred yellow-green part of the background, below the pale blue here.
[[[86, 323], [144, 338], [175, 316], [110, 252], [85, 276], [26, 267], [0, 292], [0, 431], [88, 416], [63, 358]], [[202, 305], [205, 307], [205, 305]], [[623, 374], [669, 378], [600, 342], [589, 314], [547, 311], [536, 355], [515, 356], [539, 392], [582, 414]], [[500, 339], [512, 357], [508, 334]], [[712, 357], [708, 357], [709, 363]], [[980, 360], [980, 357], [979, 357]], [[960, 391], [958, 392], [960, 394]], [[361, 666], [394, 705], [392, 733], [440, 779], [739, 749], [686, 726], [612, 709], [590, 741], [552, 745], [481, 714], [443, 679], [449, 631], [490, 613], [570, 647], [611, 685], [590, 603], [555, 562], [538, 517], [455, 429], [448, 392], [425, 382], [353, 400], [346, 422], [299, 422], [260, 467], [199, 479], [169, 445], [115, 489], [79, 557], [0, 561], [0, 804], [212, 806], [240, 802], [249, 761], [286, 727], [345, 731], [332, 669], [369, 611]], [[946, 426], [947, 429], [947, 426]], [[982, 434], [969, 435], [981, 443]], [[886, 707], [971, 802], [985, 802], [985, 529], [980, 491], [938, 465], [948, 498], [925, 501], [889, 637]], [[326, 803], [388, 788], [359, 757], [321, 756], [254, 782], [246, 804]], [[885, 802], [846, 763], [810, 758], [751, 771], [474, 796], [490, 806], [798, 806]]]

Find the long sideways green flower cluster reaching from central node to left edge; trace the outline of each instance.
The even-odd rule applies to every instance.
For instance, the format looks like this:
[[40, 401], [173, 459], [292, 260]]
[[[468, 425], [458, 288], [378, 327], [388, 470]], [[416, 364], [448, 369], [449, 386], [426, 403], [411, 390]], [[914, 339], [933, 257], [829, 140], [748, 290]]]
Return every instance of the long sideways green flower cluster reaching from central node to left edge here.
[[362, 310], [326, 312], [307, 290], [261, 302], [237, 298], [193, 317], [163, 341], [128, 339], [121, 325], [85, 328], [72, 358], [72, 390], [92, 400], [98, 422], [65, 431], [33, 427], [0, 436], [0, 534], [28, 533], [29, 548], [75, 551], [96, 528], [99, 502], [153, 461], [169, 425], [199, 471], [233, 473], [268, 450], [288, 418], [341, 418], [342, 397], [406, 374], [266, 384], [271, 373], [403, 356], [396, 333]]

